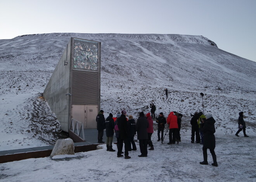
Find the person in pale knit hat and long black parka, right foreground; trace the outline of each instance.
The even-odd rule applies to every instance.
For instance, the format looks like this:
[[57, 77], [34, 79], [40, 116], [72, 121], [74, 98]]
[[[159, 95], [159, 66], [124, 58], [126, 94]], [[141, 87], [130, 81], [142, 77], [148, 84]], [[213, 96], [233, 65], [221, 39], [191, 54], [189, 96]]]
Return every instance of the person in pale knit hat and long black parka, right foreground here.
[[200, 164], [208, 165], [207, 161], [207, 149], [210, 150], [211, 155], [213, 157], [213, 163], [211, 165], [218, 166], [216, 154], [214, 152], [215, 149], [215, 127], [214, 127], [215, 120], [211, 114], [206, 115], [206, 120], [204, 121], [204, 126], [202, 127], [201, 131], [204, 133], [204, 144], [203, 144], [203, 156], [204, 161], [200, 162]]

